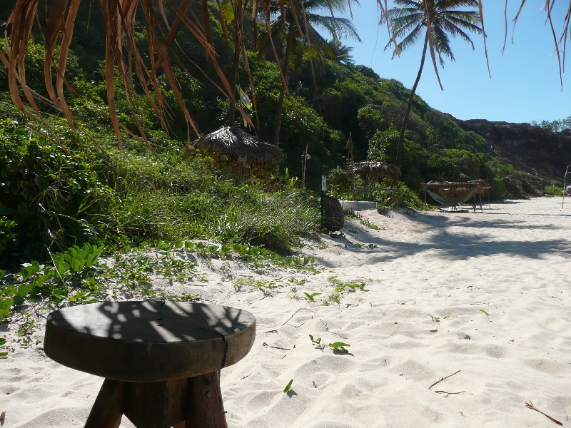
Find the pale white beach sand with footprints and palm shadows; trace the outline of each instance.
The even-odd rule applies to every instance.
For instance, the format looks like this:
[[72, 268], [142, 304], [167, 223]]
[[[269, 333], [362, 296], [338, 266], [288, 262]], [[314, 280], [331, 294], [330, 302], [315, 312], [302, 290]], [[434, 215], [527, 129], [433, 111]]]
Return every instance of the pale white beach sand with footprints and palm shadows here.
[[[318, 275], [230, 266], [233, 275], [284, 285], [273, 297], [216, 284], [221, 262], [201, 265], [210, 282], [192, 290], [258, 320], [250, 354], [222, 371], [229, 427], [556, 426], [526, 409], [528, 400], [571, 427], [571, 203], [565, 210], [560, 198], [540, 198], [475, 214], [362, 214], [385, 230], [348, 222], [345, 238], [305, 248], [321, 258]], [[366, 291], [323, 306], [331, 276], [363, 280]], [[291, 298], [290, 277], [308, 281], [299, 295], [323, 295]], [[350, 354], [317, 349], [309, 335], [347, 342]], [[11, 347], [0, 361], [4, 426], [81, 427], [101, 379], [52, 362], [41, 348]], [[290, 379], [292, 392], [284, 394]], [[123, 417], [121, 427], [132, 426]]]

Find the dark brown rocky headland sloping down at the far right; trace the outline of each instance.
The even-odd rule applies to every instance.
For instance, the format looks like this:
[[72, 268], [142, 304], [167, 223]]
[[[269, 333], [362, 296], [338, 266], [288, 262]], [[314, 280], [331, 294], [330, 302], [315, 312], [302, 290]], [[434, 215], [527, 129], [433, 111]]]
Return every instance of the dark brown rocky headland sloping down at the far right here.
[[550, 184], [562, 183], [565, 167], [571, 163], [571, 131], [554, 133], [529, 123], [461, 121], [448, 116], [465, 131], [484, 137], [497, 156], [516, 168]]

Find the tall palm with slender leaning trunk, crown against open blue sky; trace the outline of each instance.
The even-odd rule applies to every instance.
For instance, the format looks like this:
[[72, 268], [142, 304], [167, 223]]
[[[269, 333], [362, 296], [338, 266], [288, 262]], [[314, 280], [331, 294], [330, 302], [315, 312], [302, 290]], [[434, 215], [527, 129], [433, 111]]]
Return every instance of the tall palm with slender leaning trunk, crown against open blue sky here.
[[[398, 42], [398, 47], [393, 51], [395, 55], [404, 52], [413, 46], [420, 37], [424, 35], [423, 56], [420, 59], [420, 68], [416, 76], [413, 90], [410, 91], [408, 104], [406, 106], [403, 123], [400, 125], [400, 137], [398, 139], [397, 156], [395, 165], [400, 164], [400, 156], [403, 152], [403, 142], [405, 139], [405, 128], [410, 108], [413, 105], [418, 81], [423, 73], [426, 49], [430, 45], [430, 54], [433, 58], [434, 69], [438, 77], [438, 67], [436, 65], [435, 54], [438, 54], [440, 66], [444, 66], [443, 56], [448, 56], [450, 61], [454, 61], [454, 55], [450, 50], [450, 36], [460, 36], [468, 42], [474, 49], [473, 41], [468, 32], [482, 34], [480, 24], [480, 14], [476, 10], [458, 10], [459, 7], [477, 8], [478, 0], [394, 0], [400, 7], [390, 9], [387, 13], [390, 25], [393, 29], [393, 40], [389, 41], [385, 49], [391, 44]], [[380, 24], [384, 24], [385, 19], [380, 19]], [[429, 31], [430, 29], [430, 31]], [[440, 77], [438, 77], [440, 83]], [[440, 84], [442, 88], [442, 84]]]

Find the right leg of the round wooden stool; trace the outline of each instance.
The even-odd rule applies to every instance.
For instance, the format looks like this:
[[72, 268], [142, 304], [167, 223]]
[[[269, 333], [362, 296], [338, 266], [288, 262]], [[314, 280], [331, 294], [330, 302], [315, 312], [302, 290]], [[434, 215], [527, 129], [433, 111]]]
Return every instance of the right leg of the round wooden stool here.
[[187, 400], [186, 428], [228, 428], [220, 390], [220, 372], [189, 377]]

